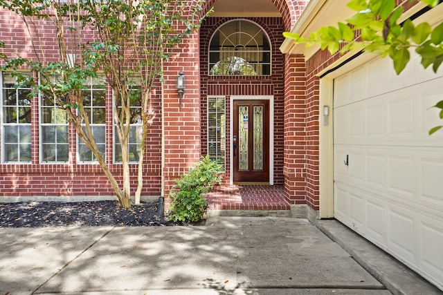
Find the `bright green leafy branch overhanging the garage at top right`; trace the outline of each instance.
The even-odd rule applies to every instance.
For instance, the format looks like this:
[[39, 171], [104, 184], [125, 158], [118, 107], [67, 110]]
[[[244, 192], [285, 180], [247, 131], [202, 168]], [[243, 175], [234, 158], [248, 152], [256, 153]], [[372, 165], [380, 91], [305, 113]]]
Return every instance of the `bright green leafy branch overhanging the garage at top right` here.
[[[439, 0], [421, 1], [431, 7], [440, 3]], [[397, 7], [395, 0], [352, 0], [347, 6], [356, 13], [345, 23], [322, 27], [309, 37], [291, 32], [284, 32], [283, 35], [307, 47], [318, 44], [321, 50], [328, 50], [331, 55], [363, 50], [365, 53], [390, 57], [397, 75], [410, 61], [410, 48], [414, 48], [421, 57], [422, 66], [432, 66], [433, 71], [437, 72], [443, 62], [443, 23], [433, 27], [427, 22], [413, 23], [411, 19], [399, 22], [404, 7]], [[443, 119], [443, 101], [433, 107], [440, 108], [440, 119]], [[435, 126], [429, 134], [442, 128]]]

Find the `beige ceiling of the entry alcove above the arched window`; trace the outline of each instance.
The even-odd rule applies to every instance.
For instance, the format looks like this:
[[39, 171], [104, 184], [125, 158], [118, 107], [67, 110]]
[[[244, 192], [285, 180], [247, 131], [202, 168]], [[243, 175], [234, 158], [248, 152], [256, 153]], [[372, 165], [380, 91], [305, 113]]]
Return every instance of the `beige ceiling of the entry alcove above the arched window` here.
[[210, 17], [281, 17], [271, 0], [218, 0]]

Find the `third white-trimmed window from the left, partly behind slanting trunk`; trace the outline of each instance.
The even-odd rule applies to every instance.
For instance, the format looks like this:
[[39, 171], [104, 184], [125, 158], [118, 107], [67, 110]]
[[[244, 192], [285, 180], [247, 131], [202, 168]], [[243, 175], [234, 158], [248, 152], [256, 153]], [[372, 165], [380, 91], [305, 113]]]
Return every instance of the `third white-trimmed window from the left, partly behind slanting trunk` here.
[[[105, 125], [106, 125], [106, 86], [105, 77], [89, 78], [87, 84], [84, 85], [82, 91], [83, 108], [87, 113], [89, 126], [93, 134], [94, 140], [98, 146], [98, 150], [105, 158]], [[84, 126], [84, 124], [83, 124]], [[82, 163], [97, 162], [96, 156], [86, 144], [77, 137], [78, 142], [78, 161]]]

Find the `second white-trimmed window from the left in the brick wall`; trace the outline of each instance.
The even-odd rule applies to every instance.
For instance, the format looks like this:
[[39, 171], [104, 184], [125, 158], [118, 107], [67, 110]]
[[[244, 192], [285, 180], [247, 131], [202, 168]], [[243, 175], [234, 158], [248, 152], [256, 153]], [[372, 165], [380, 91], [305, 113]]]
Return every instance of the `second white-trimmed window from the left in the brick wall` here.
[[69, 162], [67, 114], [51, 95], [40, 93], [40, 157], [43, 163]]

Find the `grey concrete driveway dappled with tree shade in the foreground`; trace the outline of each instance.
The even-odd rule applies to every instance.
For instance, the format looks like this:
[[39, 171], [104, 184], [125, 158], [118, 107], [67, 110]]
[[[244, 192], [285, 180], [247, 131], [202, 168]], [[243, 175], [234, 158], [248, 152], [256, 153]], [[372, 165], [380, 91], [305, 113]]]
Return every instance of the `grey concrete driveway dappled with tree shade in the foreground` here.
[[318, 227], [214, 217], [199, 227], [1, 228], [0, 294], [441, 294], [335, 220]]

